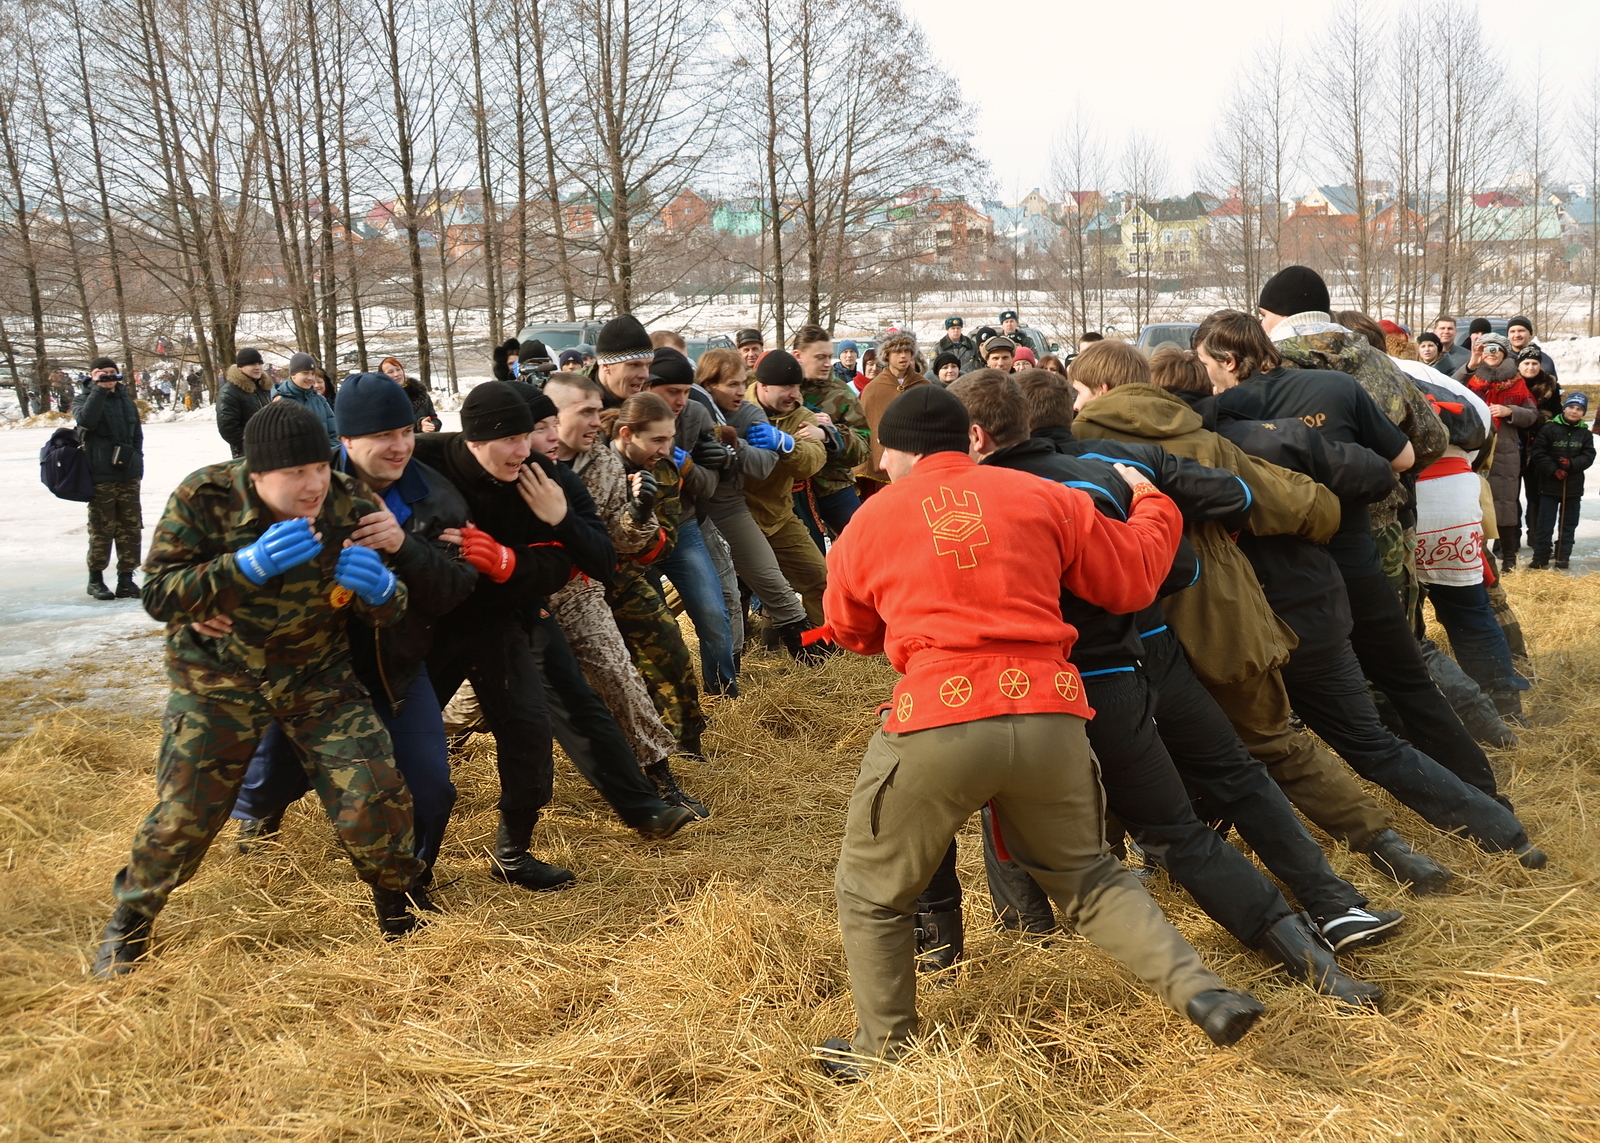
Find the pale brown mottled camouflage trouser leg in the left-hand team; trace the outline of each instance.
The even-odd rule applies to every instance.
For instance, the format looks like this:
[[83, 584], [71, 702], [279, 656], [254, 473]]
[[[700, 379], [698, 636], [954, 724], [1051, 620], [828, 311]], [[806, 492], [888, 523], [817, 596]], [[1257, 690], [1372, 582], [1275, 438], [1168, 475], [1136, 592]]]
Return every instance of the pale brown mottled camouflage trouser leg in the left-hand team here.
[[611, 711], [640, 765], [651, 765], [672, 754], [678, 748], [677, 740], [662, 724], [650, 688], [627, 653], [622, 632], [605, 602], [605, 589], [594, 580], [570, 583], [550, 597], [550, 615], [566, 636], [566, 645], [573, 648], [584, 679]]

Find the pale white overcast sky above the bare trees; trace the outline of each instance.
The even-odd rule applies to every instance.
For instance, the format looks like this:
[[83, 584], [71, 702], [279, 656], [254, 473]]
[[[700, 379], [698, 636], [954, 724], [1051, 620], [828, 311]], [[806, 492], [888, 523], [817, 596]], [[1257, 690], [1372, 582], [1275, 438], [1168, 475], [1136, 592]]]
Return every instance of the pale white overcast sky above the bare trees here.
[[[1294, 45], [1322, 37], [1331, 5], [1269, 0], [904, 0], [941, 62], [978, 107], [978, 147], [995, 190], [1016, 202], [1050, 190], [1050, 146], [1074, 106], [1101, 123], [1114, 150], [1130, 131], [1166, 149], [1168, 192], [1192, 189], [1235, 61], [1282, 29]], [[1413, 0], [1414, 2], [1414, 0]], [[1387, 24], [1400, 0], [1370, 0]], [[1542, 53], [1549, 78], [1571, 96], [1600, 54], [1600, 0], [1494, 0], [1483, 30], [1504, 45], [1491, 66], [1510, 69]], [[870, 75], [858, 82], [870, 83]]]

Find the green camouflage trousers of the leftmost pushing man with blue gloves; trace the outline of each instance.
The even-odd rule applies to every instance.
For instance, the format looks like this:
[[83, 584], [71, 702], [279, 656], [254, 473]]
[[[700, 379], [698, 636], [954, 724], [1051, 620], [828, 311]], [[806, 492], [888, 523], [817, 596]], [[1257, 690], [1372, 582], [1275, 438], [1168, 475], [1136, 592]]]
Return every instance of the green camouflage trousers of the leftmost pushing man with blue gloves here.
[[117, 901], [154, 917], [195, 876], [222, 829], [250, 756], [274, 720], [298, 748], [334, 836], [357, 876], [410, 888], [422, 863], [411, 836], [411, 794], [394, 765], [394, 744], [355, 685], [301, 684], [296, 690], [174, 690], [162, 719], [157, 804], [133, 836], [117, 874]]

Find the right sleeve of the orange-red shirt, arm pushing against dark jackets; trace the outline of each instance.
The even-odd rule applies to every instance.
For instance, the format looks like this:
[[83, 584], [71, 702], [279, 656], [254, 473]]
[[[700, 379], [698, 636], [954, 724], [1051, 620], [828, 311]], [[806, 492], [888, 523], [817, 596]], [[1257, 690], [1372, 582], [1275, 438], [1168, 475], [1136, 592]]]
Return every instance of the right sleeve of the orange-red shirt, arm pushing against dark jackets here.
[[1128, 522], [1122, 523], [1094, 511], [1086, 493], [1059, 485], [1058, 490], [1072, 498], [1061, 531], [1062, 547], [1074, 559], [1061, 573], [1061, 586], [1112, 615], [1154, 604], [1184, 535], [1178, 506], [1154, 487], [1141, 485]]

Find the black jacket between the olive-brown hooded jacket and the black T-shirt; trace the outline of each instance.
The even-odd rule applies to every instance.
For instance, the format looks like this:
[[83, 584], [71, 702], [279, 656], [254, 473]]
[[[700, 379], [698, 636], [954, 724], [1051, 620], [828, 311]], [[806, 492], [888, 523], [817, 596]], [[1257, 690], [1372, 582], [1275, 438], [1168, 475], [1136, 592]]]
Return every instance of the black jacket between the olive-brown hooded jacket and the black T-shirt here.
[[[1371, 448], [1328, 440], [1298, 418], [1251, 421], [1222, 408], [1216, 411], [1214, 427], [1242, 451], [1309, 475], [1341, 504], [1365, 507], [1394, 490], [1389, 461]], [[1302, 648], [1330, 647], [1349, 637], [1350, 602], [1344, 576], [1323, 544], [1243, 531], [1238, 549], [1254, 568], [1272, 610], [1294, 629]]]

